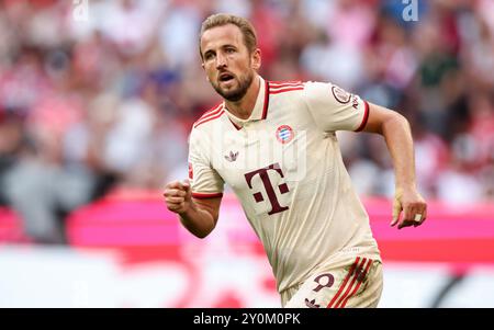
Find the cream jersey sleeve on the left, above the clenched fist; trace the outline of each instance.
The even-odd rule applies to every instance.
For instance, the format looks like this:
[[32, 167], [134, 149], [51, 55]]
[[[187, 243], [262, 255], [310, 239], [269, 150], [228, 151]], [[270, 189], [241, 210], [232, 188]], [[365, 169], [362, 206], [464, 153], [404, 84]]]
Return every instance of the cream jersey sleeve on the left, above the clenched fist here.
[[223, 196], [224, 181], [211, 167], [210, 144], [203, 135], [193, 128], [189, 138], [189, 182], [192, 187], [192, 197], [221, 197]]

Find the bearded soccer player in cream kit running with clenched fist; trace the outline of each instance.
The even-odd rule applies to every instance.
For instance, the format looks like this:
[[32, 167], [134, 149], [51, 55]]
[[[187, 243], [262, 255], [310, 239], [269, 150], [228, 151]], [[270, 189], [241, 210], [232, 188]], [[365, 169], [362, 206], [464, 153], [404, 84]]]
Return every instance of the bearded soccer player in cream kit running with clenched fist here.
[[189, 181], [166, 185], [168, 209], [204, 238], [227, 183], [265, 247], [282, 306], [377, 307], [380, 252], [335, 132], [385, 138], [396, 178], [391, 225], [416, 227], [427, 210], [415, 183], [408, 122], [332, 83], [262, 79], [256, 32], [243, 18], [207, 18], [200, 54], [224, 102], [193, 125]]

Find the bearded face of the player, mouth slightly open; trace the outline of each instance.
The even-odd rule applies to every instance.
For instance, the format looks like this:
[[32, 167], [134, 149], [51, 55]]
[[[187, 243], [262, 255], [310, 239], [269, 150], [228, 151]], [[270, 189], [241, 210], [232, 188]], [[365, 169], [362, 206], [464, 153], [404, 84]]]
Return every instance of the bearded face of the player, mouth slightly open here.
[[216, 92], [232, 102], [244, 98], [260, 67], [260, 53], [249, 53], [240, 29], [227, 24], [207, 30], [201, 52], [202, 67]]

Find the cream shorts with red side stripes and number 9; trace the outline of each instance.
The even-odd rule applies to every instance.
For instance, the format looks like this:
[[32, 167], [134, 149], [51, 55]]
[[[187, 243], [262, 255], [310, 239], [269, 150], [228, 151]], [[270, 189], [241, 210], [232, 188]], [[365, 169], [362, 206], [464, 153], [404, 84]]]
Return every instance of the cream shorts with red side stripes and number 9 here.
[[378, 307], [382, 263], [357, 257], [344, 268], [325, 269], [281, 293], [287, 308]]

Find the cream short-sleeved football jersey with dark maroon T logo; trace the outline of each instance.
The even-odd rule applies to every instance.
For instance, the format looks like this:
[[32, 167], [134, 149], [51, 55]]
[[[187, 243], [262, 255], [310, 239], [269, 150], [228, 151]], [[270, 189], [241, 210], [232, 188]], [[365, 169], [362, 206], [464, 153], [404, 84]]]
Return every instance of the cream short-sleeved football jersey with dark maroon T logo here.
[[279, 292], [356, 255], [380, 260], [335, 134], [362, 129], [368, 103], [330, 83], [258, 79], [248, 120], [222, 103], [193, 125], [193, 197], [222, 196], [224, 183], [233, 189], [265, 247]]

